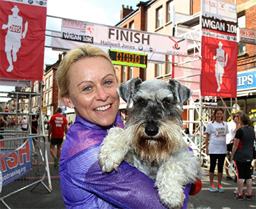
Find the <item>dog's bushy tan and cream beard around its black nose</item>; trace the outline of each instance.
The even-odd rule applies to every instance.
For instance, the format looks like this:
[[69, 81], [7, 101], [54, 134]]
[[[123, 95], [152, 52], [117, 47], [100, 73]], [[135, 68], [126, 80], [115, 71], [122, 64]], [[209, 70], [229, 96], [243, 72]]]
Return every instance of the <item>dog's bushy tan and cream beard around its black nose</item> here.
[[160, 164], [181, 148], [181, 127], [175, 121], [158, 121], [158, 127], [159, 132], [153, 137], [145, 133], [143, 123], [130, 123], [126, 129], [132, 141], [131, 146], [141, 160]]

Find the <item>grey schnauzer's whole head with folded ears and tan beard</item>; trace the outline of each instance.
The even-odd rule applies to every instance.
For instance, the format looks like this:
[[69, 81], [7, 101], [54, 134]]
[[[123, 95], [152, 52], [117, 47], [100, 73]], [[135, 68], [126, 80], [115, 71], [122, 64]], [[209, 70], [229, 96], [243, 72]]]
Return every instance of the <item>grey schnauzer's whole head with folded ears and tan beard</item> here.
[[[192, 93], [189, 88], [175, 79], [142, 82], [134, 78], [119, 86], [118, 92], [127, 108], [133, 101], [126, 128], [132, 127], [135, 132], [134, 143], [141, 157], [149, 159], [150, 155], [151, 160], [163, 160], [170, 150], [175, 152], [181, 147], [181, 111]], [[154, 152], [165, 157], [152, 157]]]

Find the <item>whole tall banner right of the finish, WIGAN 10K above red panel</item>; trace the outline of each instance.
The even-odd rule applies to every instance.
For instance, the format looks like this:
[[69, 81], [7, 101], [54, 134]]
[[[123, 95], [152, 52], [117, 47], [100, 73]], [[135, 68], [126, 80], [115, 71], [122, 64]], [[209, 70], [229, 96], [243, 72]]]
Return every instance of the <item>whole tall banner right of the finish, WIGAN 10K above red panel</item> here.
[[201, 95], [236, 98], [236, 5], [202, 1]]

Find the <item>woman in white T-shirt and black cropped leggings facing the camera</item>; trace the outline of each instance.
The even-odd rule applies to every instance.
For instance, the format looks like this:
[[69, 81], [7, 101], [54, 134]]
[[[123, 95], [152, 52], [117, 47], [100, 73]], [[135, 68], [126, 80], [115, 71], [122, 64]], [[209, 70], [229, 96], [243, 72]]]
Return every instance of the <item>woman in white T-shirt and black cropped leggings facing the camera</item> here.
[[[223, 187], [221, 186], [221, 180], [223, 178], [223, 165], [225, 157], [227, 154], [227, 145], [226, 145], [226, 134], [227, 123], [223, 122], [223, 109], [217, 107], [214, 110], [214, 120], [211, 123], [208, 123], [206, 127], [206, 155], [210, 155], [210, 169], [209, 169], [209, 179], [210, 186], [209, 190], [211, 192], [224, 192]], [[218, 185], [217, 188], [213, 183], [214, 170], [216, 167], [216, 162], [218, 160]]]

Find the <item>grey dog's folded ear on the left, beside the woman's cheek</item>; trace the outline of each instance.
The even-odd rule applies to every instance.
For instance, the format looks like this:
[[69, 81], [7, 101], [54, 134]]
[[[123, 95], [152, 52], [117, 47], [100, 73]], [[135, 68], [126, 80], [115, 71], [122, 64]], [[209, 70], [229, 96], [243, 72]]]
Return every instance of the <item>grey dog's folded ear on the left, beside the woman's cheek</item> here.
[[132, 102], [133, 100], [135, 91], [137, 90], [137, 87], [141, 83], [142, 83], [142, 79], [140, 79], [139, 77], [136, 77], [128, 80], [128, 82], [125, 82], [124, 84], [121, 84], [121, 86], [117, 88], [119, 96], [127, 102], [126, 109], [130, 107], [130, 102]]

